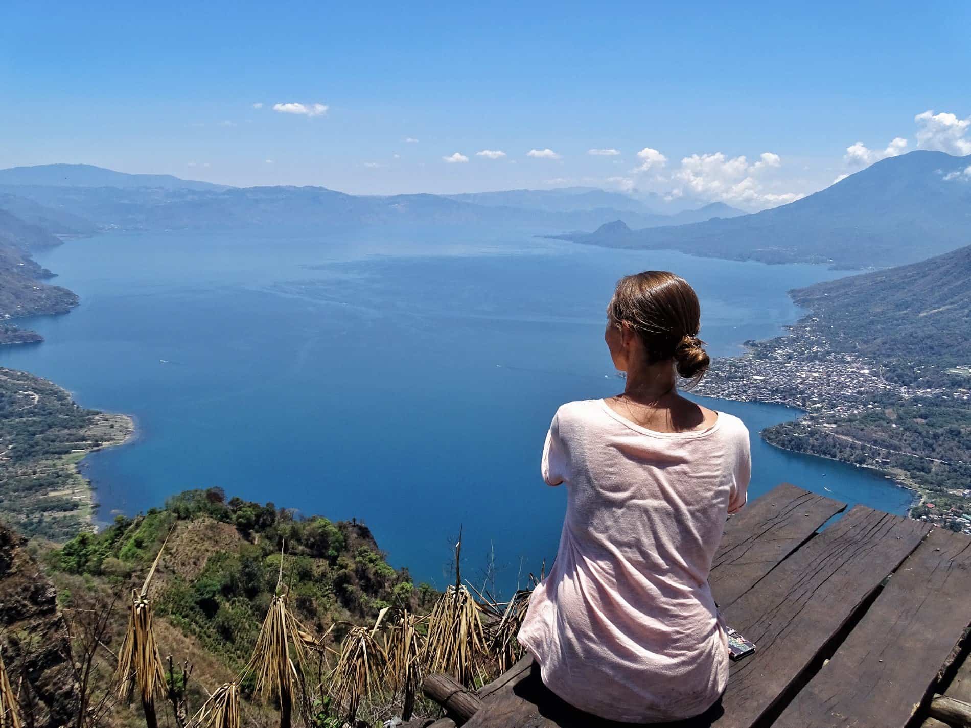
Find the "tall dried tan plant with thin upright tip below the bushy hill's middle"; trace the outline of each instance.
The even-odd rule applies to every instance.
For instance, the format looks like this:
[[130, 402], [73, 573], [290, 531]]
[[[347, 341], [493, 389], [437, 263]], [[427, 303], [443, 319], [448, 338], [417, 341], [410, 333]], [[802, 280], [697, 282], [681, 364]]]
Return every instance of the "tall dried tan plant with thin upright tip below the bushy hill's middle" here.
[[[283, 554], [280, 560], [280, 578], [277, 590], [284, 578]], [[285, 593], [273, 597], [266, 613], [259, 638], [248, 665], [255, 676], [255, 690], [263, 700], [276, 692], [280, 697], [280, 726], [289, 728], [293, 713], [293, 696], [297, 688], [303, 688], [304, 665], [307, 650], [316, 646], [314, 637], [286, 607]], [[292, 650], [293, 657], [290, 657]]]

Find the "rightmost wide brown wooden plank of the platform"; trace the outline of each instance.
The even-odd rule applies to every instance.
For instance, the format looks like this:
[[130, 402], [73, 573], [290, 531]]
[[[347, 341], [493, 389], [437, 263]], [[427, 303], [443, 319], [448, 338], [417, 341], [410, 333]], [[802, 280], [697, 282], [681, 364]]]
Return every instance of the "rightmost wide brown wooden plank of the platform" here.
[[971, 538], [940, 528], [904, 561], [777, 728], [902, 728], [971, 622]]

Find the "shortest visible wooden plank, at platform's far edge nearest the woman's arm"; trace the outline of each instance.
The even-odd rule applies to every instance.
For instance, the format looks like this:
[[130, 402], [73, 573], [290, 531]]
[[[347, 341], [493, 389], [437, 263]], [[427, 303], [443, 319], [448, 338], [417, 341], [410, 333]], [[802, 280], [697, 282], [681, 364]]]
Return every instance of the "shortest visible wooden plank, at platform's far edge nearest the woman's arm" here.
[[719, 608], [731, 605], [846, 507], [785, 482], [729, 518], [708, 579]]

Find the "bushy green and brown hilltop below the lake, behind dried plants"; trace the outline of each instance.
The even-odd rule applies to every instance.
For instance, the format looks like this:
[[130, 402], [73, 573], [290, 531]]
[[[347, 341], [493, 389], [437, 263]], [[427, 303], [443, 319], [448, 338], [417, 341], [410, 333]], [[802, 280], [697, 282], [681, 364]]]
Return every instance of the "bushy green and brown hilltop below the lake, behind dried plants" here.
[[282, 551], [290, 609], [318, 633], [335, 621], [373, 620], [385, 607], [419, 605], [407, 570], [387, 564], [363, 524], [226, 501], [219, 488], [185, 491], [136, 518], [118, 516], [103, 532], [81, 533], [50, 552], [48, 563], [117, 586], [148, 570], [170, 531], [155, 578], [156, 614], [234, 669], [250, 657]]

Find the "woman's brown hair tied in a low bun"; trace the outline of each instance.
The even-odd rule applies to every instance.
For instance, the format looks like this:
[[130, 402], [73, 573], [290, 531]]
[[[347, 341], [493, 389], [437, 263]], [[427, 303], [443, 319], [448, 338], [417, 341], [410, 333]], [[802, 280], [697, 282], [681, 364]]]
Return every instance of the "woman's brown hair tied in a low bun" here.
[[626, 321], [641, 337], [648, 363], [673, 359], [679, 376], [700, 380], [711, 360], [698, 339], [701, 305], [685, 279], [667, 271], [625, 276], [607, 307], [612, 323]]

